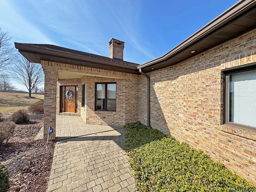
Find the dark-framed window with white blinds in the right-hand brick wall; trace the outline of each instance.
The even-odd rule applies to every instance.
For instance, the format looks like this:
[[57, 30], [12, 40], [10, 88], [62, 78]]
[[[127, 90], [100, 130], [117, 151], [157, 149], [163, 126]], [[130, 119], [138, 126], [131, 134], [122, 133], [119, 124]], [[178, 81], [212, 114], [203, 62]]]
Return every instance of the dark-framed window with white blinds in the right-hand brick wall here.
[[256, 130], [256, 67], [225, 73], [224, 123]]

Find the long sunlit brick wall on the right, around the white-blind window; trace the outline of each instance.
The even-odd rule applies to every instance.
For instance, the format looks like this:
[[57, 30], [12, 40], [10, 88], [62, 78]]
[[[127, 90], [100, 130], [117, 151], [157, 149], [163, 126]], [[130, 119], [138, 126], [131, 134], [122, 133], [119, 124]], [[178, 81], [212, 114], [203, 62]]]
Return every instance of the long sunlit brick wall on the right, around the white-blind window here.
[[[148, 73], [152, 127], [204, 150], [254, 185], [256, 132], [222, 125], [221, 70], [256, 62], [255, 39], [256, 30], [252, 30], [184, 62]], [[142, 75], [139, 85], [138, 118], [146, 124], [146, 78]]]

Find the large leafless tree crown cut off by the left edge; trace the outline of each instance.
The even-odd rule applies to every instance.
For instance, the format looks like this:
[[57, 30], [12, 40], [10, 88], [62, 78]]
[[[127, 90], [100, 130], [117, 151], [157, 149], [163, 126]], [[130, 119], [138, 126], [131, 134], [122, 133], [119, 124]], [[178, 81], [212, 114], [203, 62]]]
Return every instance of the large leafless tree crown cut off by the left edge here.
[[16, 57], [14, 48], [10, 46], [10, 40], [8, 33], [0, 28], [0, 71]]

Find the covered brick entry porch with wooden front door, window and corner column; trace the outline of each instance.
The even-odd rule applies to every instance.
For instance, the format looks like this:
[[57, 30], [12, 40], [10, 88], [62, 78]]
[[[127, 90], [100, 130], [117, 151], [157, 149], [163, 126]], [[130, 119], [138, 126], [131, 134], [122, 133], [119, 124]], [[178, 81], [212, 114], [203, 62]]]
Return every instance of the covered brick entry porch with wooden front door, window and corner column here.
[[[72, 134], [81, 131], [83, 133], [79, 135], [86, 135], [89, 134], [88, 130], [99, 129], [90, 126], [90, 128], [86, 129], [84, 127], [78, 132], [71, 131], [69, 126], [71, 124], [76, 125], [76, 120], [70, 121], [70, 115], [82, 119], [84, 125], [106, 126], [105, 128], [101, 127], [103, 130], [109, 129], [109, 126], [120, 127], [126, 122], [138, 121], [138, 75], [98, 70], [96, 68], [74, 67], [69, 64], [46, 61], [42, 61], [41, 64], [45, 74], [44, 140], [47, 140], [49, 127], [54, 129], [54, 133], [49, 136], [49, 140], [58, 140], [56, 137], [63, 137], [63, 135], [56, 134], [63, 133], [62, 130], [58, 129], [66, 126], [68, 126], [64, 128], [68, 132], [68, 134], [65, 134], [66, 137], [73, 137], [74, 135]], [[107, 85], [105, 86], [105, 93], [112, 91], [108, 90], [108, 86], [114, 84], [115, 94], [113, 98], [115, 106], [113, 110], [112, 108], [111, 110], [107, 108], [109, 107], [107, 105], [108, 100], [112, 99], [112, 97], [108, 98], [108, 96], [105, 96], [105, 101], [108, 99], [107, 104], [105, 102], [105, 108], [98, 110], [98, 104], [96, 105], [96, 98], [98, 101], [96, 86], [102, 84]], [[62, 89], [63, 91], [61, 91]], [[72, 94], [70, 94], [70, 100], [68, 100], [68, 91], [71, 89]], [[72, 109], [75, 110], [73, 112], [66, 110], [65, 103], [73, 103], [72, 106], [74, 107]], [[65, 110], [62, 108], [65, 108]], [[71, 109], [71, 107], [67, 109]], [[57, 118], [66, 119], [64, 126], [58, 126]], [[79, 127], [76, 127], [77, 129]]]

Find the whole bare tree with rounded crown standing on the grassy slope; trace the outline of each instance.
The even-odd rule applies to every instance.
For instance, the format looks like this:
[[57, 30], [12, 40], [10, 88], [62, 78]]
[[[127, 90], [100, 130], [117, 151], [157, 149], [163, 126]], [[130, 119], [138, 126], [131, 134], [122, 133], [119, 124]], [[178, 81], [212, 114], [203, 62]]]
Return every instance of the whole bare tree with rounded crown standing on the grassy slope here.
[[23, 56], [12, 64], [10, 73], [16, 82], [26, 86], [29, 97], [31, 97], [31, 92], [36, 86], [44, 83], [44, 72], [41, 65], [29, 62]]

